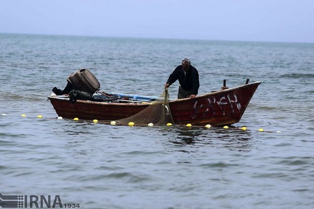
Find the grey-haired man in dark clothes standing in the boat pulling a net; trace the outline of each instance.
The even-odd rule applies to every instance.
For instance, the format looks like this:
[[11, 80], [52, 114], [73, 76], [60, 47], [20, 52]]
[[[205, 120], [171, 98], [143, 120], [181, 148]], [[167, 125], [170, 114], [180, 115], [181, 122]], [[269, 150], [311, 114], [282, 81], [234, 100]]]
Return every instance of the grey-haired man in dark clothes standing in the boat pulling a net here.
[[189, 59], [184, 58], [181, 65], [177, 66], [176, 69], [170, 74], [165, 84], [165, 88], [168, 88], [176, 80], [179, 80], [180, 83], [178, 99], [194, 99], [199, 93], [199, 72], [191, 65], [191, 61]]

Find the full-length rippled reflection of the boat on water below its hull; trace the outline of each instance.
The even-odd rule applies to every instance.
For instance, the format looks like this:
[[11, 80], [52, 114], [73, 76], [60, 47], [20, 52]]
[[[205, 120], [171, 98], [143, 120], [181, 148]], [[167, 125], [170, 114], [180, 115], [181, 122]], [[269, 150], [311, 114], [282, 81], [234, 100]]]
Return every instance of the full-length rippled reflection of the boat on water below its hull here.
[[[106, 133], [109, 131], [108, 128], [112, 126], [107, 124], [94, 124], [90, 121], [72, 121], [64, 120], [64, 122], [57, 124], [54, 127], [54, 133], [64, 133], [69, 137], [75, 137], [80, 135], [81, 137], [98, 137], [100, 134], [106, 136]], [[224, 130], [222, 128], [212, 127], [211, 129], [205, 129], [201, 127], [192, 127], [187, 128], [183, 126], [175, 127], [153, 127], [153, 128], [144, 128], [144, 127], [124, 127], [117, 126], [119, 133], [123, 136], [116, 136], [115, 134], [109, 134], [107, 137], [110, 138], [125, 138], [128, 135], [129, 131], [135, 131], [138, 137], [151, 135], [151, 131], [157, 131], [162, 133], [165, 140], [175, 146], [190, 146], [194, 148], [200, 147], [215, 147], [215, 148], [227, 148], [232, 151], [243, 151], [249, 152], [252, 150], [255, 140], [251, 135], [250, 131], [242, 131], [238, 129]], [[126, 129], [127, 128], [127, 129]], [[128, 129], [130, 128], [130, 129]], [[186, 150], [179, 150], [186, 152]]]

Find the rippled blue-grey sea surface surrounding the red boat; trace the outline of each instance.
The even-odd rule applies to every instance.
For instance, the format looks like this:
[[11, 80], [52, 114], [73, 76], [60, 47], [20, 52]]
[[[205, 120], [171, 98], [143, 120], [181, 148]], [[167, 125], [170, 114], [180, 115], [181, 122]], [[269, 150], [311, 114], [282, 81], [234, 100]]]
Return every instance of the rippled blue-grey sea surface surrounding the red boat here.
[[[233, 125], [248, 131], [58, 120], [47, 100], [78, 68], [102, 91], [158, 96], [184, 57], [199, 94], [223, 79], [262, 82]], [[314, 208], [314, 44], [0, 34], [0, 73], [3, 195], [80, 208]]]

